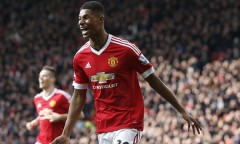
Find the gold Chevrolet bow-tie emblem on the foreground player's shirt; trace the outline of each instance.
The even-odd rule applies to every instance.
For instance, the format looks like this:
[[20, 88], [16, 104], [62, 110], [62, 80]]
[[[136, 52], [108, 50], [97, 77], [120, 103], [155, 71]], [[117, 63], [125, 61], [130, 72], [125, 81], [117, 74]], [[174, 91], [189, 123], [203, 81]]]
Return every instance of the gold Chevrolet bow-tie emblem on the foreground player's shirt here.
[[98, 83], [107, 83], [107, 80], [113, 80], [114, 77], [115, 77], [114, 73], [105, 74], [105, 72], [100, 72], [94, 76], [91, 76], [91, 81]]

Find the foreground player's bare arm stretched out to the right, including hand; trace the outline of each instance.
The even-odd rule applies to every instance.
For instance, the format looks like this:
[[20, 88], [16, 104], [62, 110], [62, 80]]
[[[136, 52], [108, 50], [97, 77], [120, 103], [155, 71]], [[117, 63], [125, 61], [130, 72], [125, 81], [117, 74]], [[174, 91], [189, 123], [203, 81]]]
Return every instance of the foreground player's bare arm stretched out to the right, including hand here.
[[162, 82], [162, 80], [155, 73], [152, 73], [145, 79], [158, 94], [160, 94], [175, 109], [178, 110], [182, 117], [187, 121], [188, 130], [192, 126], [193, 133], [195, 134], [196, 129], [198, 134], [200, 134], [200, 131], [202, 131], [201, 125], [190, 114], [186, 112], [184, 107], [177, 100], [175, 94]]

